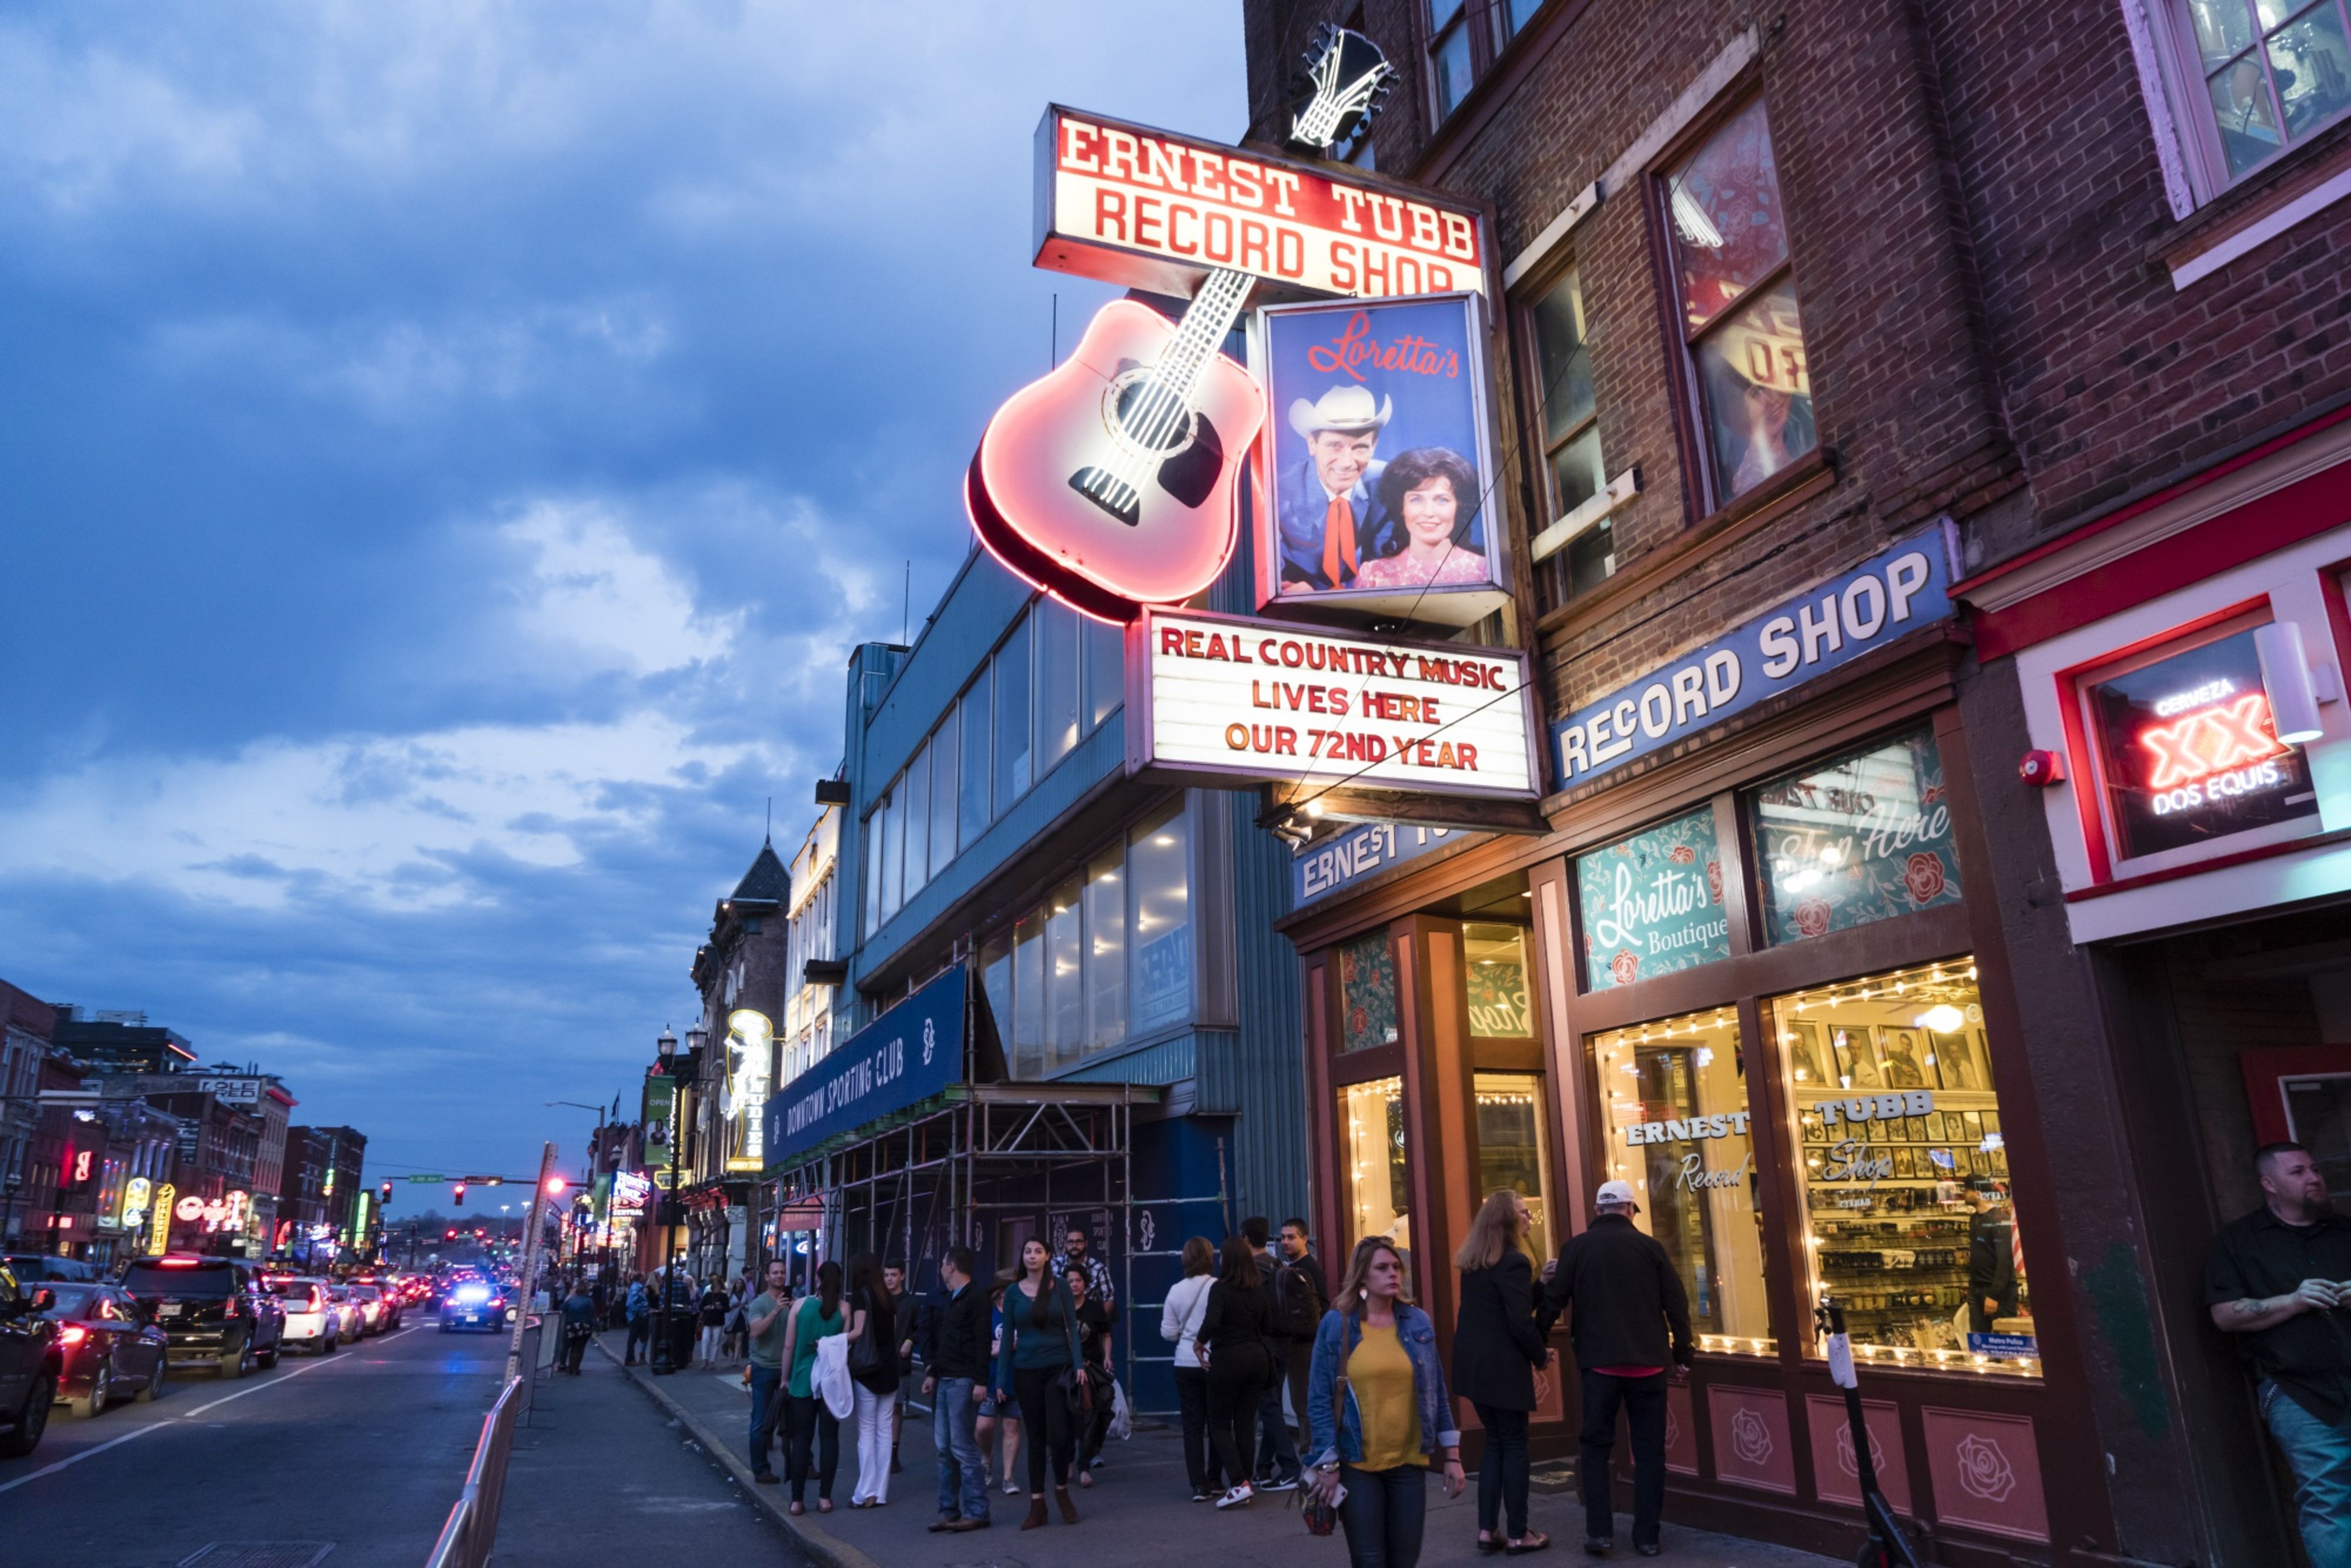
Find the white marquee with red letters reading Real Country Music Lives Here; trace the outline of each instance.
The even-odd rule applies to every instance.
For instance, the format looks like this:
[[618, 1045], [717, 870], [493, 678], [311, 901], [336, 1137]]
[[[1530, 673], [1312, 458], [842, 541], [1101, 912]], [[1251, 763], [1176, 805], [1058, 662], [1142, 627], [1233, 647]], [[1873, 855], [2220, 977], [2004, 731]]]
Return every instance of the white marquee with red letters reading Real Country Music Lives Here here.
[[1154, 609], [1128, 632], [1126, 670], [1128, 771], [1498, 799], [1542, 788], [1516, 649]]

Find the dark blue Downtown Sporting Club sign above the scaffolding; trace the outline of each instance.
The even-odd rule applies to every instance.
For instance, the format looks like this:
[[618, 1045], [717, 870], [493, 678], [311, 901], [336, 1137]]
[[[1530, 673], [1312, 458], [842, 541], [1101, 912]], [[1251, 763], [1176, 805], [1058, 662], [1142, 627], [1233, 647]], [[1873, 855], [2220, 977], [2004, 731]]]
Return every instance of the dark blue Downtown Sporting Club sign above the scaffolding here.
[[966, 971], [955, 964], [766, 1100], [766, 1166], [964, 1081]]

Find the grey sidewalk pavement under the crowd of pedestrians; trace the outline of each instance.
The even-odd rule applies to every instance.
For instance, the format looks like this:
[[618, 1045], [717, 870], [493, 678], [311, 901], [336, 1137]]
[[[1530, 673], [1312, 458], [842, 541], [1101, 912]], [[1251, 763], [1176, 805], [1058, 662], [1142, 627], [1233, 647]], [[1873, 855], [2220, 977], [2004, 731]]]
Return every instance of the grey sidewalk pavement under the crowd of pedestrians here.
[[[621, 1361], [621, 1335], [600, 1338], [602, 1349]], [[976, 1563], [1025, 1563], [1027, 1568], [1058, 1568], [1060, 1563], [1096, 1566], [1105, 1544], [1114, 1544], [1119, 1563], [1168, 1563], [1194, 1568], [1199, 1552], [1211, 1544], [1220, 1561], [1251, 1563], [1260, 1568], [1345, 1568], [1347, 1542], [1340, 1535], [1314, 1540], [1307, 1535], [1298, 1509], [1291, 1507], [1295, 1493], [1270, 1493], [1246, 1509], [1215, 1512], [1206, 1502], [1192, 1502], [1185, 1483], [1183, 1450], [1173, 1427], [1145, 1429], [1126, 1443], [1107, 1443], [1107, 1465], [1093, 1472], [1093, 1488], [1072, 1486], [1079, 1523], [1063, 1526], [1060, 1514], [1041, 1530], [1020, 1530], [1027, 1514], [1023, 1453], [1023, 1493], [1006, 1497], [999, 1483], [990, 1490], [994, 1526], [969, 1535], [931, 1535], [926, 1526], [938, 1516], [938, 1467], [931, 1453], [931, 1418], [917, 1410], [905, 1413], [900, 1434], [903, 1472], [891, 1476], [889, 1507], [851, 1509], [849, 1493], [856, 1483], [856, 1434], [842, 1432], [842, 1467], [832, 1483], [832, 1514], [816, 1512], [813, 1488], [809, 1512], [790, 1519], [783, 1512], [783, 1486], [755, 1486], [745, 1462], [750, 1422], [750, 1392], [743, 1387], [741, 1363], [724, 1373], [684, 1371], [654, 1378], [647, 1368], [632, 1366], [635, 1378], [668, 1415], [684, 1422], [684, 1429], [701, 1439], [703, 1448], [724, 1462], [757, 1502], [766, 1505], [783, 1523], [799, 1535], [802, 1549], [823, 1568], [971, 1568]], [[783, 1474], [783, 1455], [776, 1455], [776, 1474]], [[1585, 1512], [1575, 1497], [1573, 1469], [1566, 1462], [1535, 1467], [1535, 1490], [1531, 1502], [1531, 1526], [1552, 1537], [1545, 1561], [1589, 1563], [1582, 1552]], [[1838, 1568], [1831, 1559], [1810, 1552], [1789, 1552], [1735, 1535], [1709, 1535], [1665, 1526], [1665, 1556], [1639, 1559], [1632, 1554], [1632, 1519], [1617, 1516], [1617, 1549], [1610, 1561], [1657, 1561], [1681, 1568]], [[1476, 1472], [1469, 1488], [1446, 1502], [1444, 1490], [1429, 1483], [1429, 1528], [1420, 1561], [1429, 1568], [1469, 1568], [1486, 1563], [1476, 1552]]]

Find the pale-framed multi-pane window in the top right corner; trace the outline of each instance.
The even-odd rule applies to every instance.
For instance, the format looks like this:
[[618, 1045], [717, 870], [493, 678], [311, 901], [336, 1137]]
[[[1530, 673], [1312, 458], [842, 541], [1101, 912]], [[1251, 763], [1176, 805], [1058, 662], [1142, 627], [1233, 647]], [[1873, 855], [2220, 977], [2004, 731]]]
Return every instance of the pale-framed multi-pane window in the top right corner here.
[[2226, 186], [2351, 110], [2344, 0], [2186, 0], [2179, 42], [2201, 82], [2189, 118]]

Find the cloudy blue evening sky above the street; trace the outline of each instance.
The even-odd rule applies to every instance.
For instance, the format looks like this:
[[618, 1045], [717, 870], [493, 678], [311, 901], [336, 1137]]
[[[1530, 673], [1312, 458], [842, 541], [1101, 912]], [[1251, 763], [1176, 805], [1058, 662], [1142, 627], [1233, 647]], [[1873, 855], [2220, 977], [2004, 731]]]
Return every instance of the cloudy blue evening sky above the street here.
[[374, 1173], [576, 1157], [1103, 296], [1041, 106], [1241, 92], [1234, 0], [16, 7], [0, 978]]

